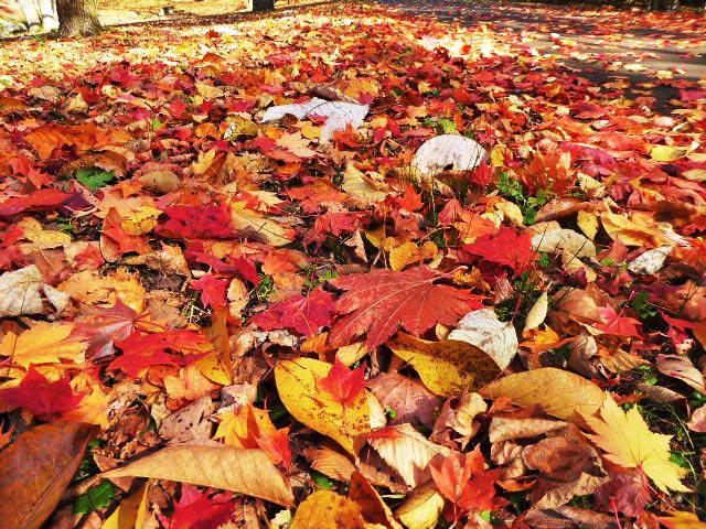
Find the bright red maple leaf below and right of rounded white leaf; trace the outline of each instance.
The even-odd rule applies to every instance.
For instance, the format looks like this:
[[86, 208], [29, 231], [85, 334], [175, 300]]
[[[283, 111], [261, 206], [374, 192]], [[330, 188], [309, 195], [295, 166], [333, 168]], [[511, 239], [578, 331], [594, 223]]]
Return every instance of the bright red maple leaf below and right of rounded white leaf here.
[[483, 235], [471, 245], [464, 245], [463, 251], [480, 256], [499, 264], [506, 264], [521, 272], [537, 258], [532, 249], [532, 235], [517, 235], [514, 229], [502, 227], [496, 235]]

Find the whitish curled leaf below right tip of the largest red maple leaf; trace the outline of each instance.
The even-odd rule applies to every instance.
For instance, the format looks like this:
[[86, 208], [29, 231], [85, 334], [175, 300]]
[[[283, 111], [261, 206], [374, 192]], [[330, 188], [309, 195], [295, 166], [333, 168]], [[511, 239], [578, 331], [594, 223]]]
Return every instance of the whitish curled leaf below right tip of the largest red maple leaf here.
[[449, 339], [468, 342], [490, 356], [500, 369], [505, 369], [517, 354], [517, 333], [512, 322], [498, 320], [492, 309], [468, 313], [451, 331]]

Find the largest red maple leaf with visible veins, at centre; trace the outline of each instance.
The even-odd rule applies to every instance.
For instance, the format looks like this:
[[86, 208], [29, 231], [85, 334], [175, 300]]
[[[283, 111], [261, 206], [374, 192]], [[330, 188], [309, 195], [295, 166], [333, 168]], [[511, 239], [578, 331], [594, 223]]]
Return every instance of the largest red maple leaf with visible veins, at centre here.
[[481, 296], [446, 284], [427, 267], [403, 272], [375, 270], [331, 281], [347, 290], [335, 303], [339, 320], [329, 336], [333, 347], [350, 344], [367, 333], [366, 346], [373, 349], [389, 338], [399, 326], [419, 335], [437, 323], [454, 325], [461, 316], [482, 309]]

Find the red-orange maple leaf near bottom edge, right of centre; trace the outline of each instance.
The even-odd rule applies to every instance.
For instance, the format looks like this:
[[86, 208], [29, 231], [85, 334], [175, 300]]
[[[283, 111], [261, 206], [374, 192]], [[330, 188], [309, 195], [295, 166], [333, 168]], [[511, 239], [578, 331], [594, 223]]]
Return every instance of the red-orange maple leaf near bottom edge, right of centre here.
[[466, 454], [437, 456], [429, 463], [429, 469], [441, 496], [464, 511], [495, 510], [507, 503], [495, 497], [494, 485], [503, 471], [485, 471], [480, 446]]

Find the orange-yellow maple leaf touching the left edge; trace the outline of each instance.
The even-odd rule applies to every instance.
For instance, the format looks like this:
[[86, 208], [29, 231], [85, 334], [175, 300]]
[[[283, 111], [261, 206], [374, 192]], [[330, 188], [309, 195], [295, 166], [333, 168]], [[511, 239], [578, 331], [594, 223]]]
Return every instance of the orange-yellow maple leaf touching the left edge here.
[[69, 337], [73, 328], [73, 323], [35, 322], [22, 334], [9, 332], [0, 342], [0, 356], [10, 357], [13, 364], [24, 368], [61, 360], [81, 364], [84, 361], [86, 343]]

